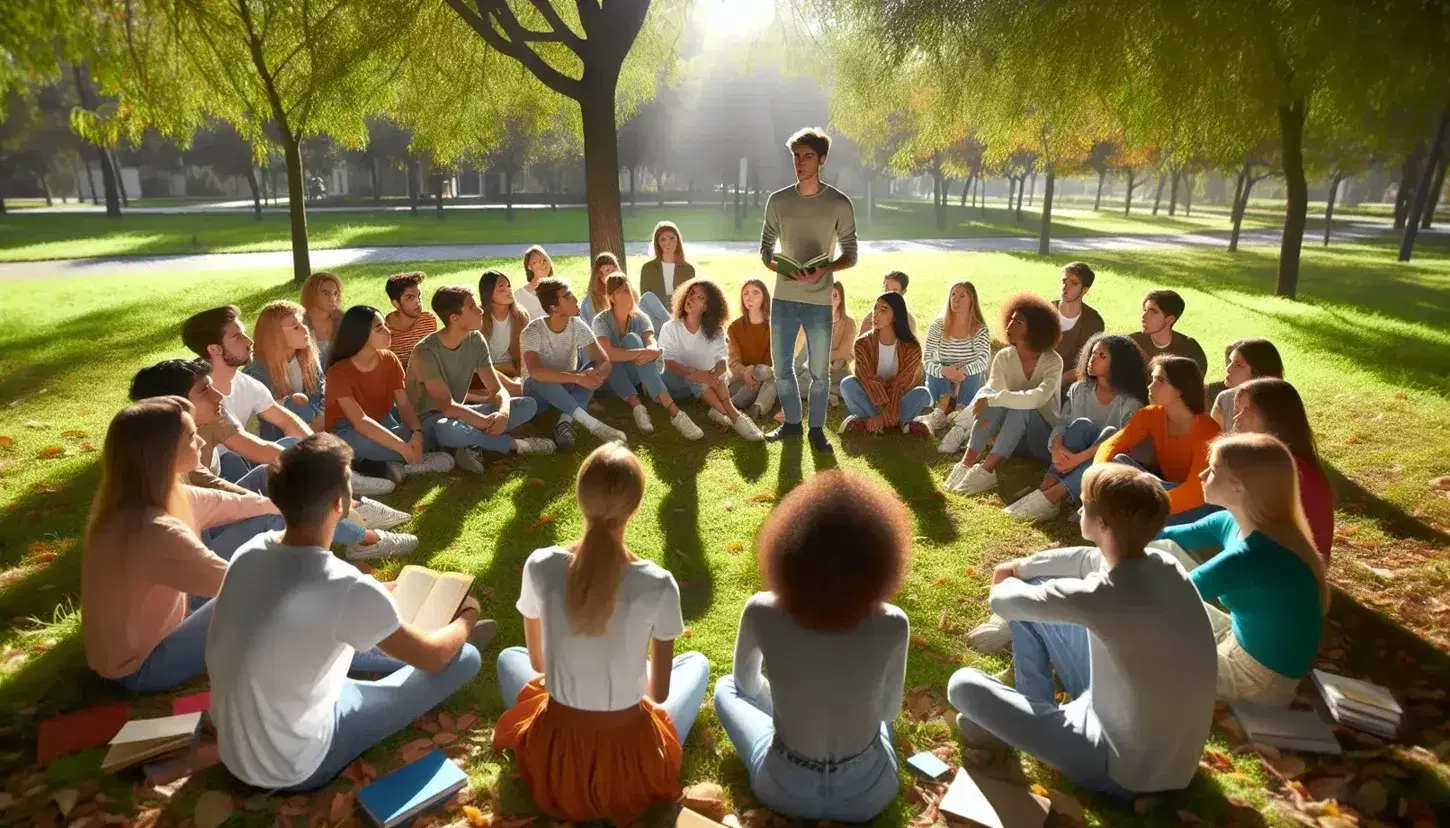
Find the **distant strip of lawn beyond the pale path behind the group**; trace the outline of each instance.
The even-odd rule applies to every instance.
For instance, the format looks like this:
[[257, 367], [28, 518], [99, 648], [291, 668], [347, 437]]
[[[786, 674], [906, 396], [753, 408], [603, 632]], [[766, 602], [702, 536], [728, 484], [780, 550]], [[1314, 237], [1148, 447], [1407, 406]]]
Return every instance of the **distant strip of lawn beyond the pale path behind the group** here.
[[[761, 209], [747, 210], [740, 229], [729, 210], [719, 204], [655, 207], [641, 202], [639, 207], [625, 207], [625, 235], [648, 239], [655, 222], [670, 219], [680, 225], [686, 244], [705, 241], [754, 241], [760, 238]], [[879, 202], [873, 222], [866, 225], [866, 207], [857, 204], [861, 238], [980, 238], [1037, 235], [1041, 218], [1035, 209], [1024, 207], [1022, 222], [1003, 207], [960, 207], [953, 203], [947, 228], [937, 229], [931, 204], [925, 202]], [[1280, 218], [1272, 210], [1250, 213], [1246, 228], [1276, 226]], [[587, 241], [589, 228], [583, 209], [516, 210], [513, 220], [502, 210], [454, 210], [442, 220], [434, 210], [322, 213], [307, 216], [313, 248], [344, 248], [373, 245], [420, 244], [478, 244]], [[1227, 231], [1230, 222], [1222, 210], [1195, 209], [1193, 216], [1151, 216], [1148, 210], [1122, 218], [1119, 210], [1099, 213], [1086, 207], [1064, 207], [1053, 212], [1054, 236], [1093, 236], [1118, 233], [1172, 233], [1198, 231]], [[158, 255], [194, 252], [244, 252], [289, 249], [290, 225], [284, 212], [267, 212], [261, 222], [251, 213], [186, 213], [186, 215], [126, 215], [109, 219], [104, 215], [45, 215], [13, 213], [0, 216], [0, 261], [33, 261], [49, 258], [87, 258], [107, 255]]]

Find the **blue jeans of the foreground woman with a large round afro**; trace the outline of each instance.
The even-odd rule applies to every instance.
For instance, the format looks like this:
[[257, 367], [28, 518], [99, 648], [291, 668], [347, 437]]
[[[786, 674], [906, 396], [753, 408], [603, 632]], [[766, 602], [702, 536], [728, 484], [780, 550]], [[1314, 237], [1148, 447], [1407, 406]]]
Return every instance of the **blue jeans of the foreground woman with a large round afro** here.
[[734, 676], [715, 683], [715, 715], [745, 763], [750, 789], [771, 811], [799, 819], [869, 822], [896, 799], [900, 780], [887, 722], [882, 722], [876, 744], [860, 755], [828, 770], [812, 770], [773, 747], [770, 697], [742, 695]]

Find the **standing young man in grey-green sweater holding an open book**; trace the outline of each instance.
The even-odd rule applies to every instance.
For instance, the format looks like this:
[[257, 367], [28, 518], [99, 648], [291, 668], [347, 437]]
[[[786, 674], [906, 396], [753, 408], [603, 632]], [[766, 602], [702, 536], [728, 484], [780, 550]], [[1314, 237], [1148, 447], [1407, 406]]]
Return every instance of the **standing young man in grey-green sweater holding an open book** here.
[[[776, 386], [784, 425], [766, 435], [768, 441], [800, 438], [800, 390], [796, 381], [796, 334], [806, 335], [806, 370], [811, 373], [811, 447], [831, 452], [825, 438], [826, 397], [831, 393], [831, 284], [834, 273], [856, 264], [856, 213], [851, 199], [821, 181], [821, 165], [831, 151], [831, 139], [821, 129], [796, 132], [786, 142], [795, 157], [796, 183], [776, 190], [766, 202], [766, 222], [760, 228], [760, 258], [774, 271], [776, 289], [770, 300], [770, 352], [779, 365]], [[841, 255], [821, 267], [783, 276], [776, 267], [776, 242], [780, 254], [798, 262], [831, 257], [837, 244]]]

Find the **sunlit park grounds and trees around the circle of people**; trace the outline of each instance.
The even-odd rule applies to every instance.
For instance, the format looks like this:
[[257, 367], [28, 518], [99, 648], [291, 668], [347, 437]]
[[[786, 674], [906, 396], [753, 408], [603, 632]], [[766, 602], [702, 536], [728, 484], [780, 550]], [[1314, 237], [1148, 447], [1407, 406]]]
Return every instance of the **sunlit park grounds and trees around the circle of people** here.
[[[905, 697], [886, 722], [899, 793], [873, 824], [960, 824], [942, 813], [948, 780], [905, 763], [929, 753], [1050, 799], [1050, 825], [1450, 825], [1443, 9], [22, 6], [0, 35], [0, 825], [365, 825], [360, 790], [434, 747], [467, 782], [416, 825], [566, 824], [535, 803], [515, 753], [494, 747], [513, 706], [494, 663], [525, 645], [516, 602], [531, 554], [584, 535], [576, 476], [594, 436], [580, 429], [571, 451], [487, 455], [483, 474], [419, 474], [376, 496], [407, 515], [396, 531], [418, 548], [357, 568], [377, 581], [409, 564], [467, 573], [497, 634], [461, 690], [335, 780], [289, 796], [215, 760], [151, 779], [103, 773], [104, 742], [38, 753], [57, 716], [117, 703], [132, 719], [167, 716], [209, 689], [203, 674], [130, 693], [87, 664], [81, 583], [107, 428], [141, 368], [194, 357], [187, 318], [235, 305], [255, 325], [268, 303], [300, 302], [316, 271], [336, 274], [344, 310], [386, 313], [392, 274], [426, 274], [426, 307], [438, 287], [473, 290], [490, 268], [521, 286], [525, 249], [541, 245], [583, 299], [602, 252], [638, 286], [657, 255], [651, 233], [671, 222], [729, 322], [747, 280], [776, 290], [761, 225], [771, 193], [796, 183], [787, 141], [802, 128], [832, 138], [819, 178], [854, 209], [858, 260], [834, 278], [856, 320], [900, 271], [925, 334], [966, 280], [993, 349], [1011, 348], [1003, 305], [1057, 299], [1064, 265], [1080, 261], [1111, 334], [1143, 329], [1147, 291], [1180, 294], [1176, 331], [1202, 344], [1205, 383], [1225, 380], [1230, 344], [1273, 342], [1333, 492], [1314, 667], [1389, 689], [1404, 721], [1393, 738], [1335, 726], [1337, 754], [1280, 750], [1250, 740], [1219, 702], [1188, 786], [1134, 798], [1088, 790], [1027, 751], [969, 744], [948, 680], [1014, 667], [1011, 653], [969, 644], [992, 615], [995, 567], [1088, 542], [1070, 509], [1040, 523], [1003, 513], [1043, 480], [1041, 461], [1008, 458], [995, 489], [964, 496], [947, 484], [956, 458], [938, 452], [941, 434], [842, 429], [845, 405], [826, 413], [834, 451], [822, 452], [742, 439], [699, 400], [680, 410], [702, 439], [658, 409], [641, 434], [600, 393], [587, 410], [628, 434], [647, 481], [625, 544], [679, 586], [674, 653], [703, 654], [710, 687], [731, 676], [742, 609], [766, 589], [763, 525], [818, 474], [858, 473], [911, 518], [890, 599], [911, 624]], [[519, 434], [551, 436], [552, 418]], [[1295, 706], [1317, 699], [1305, 679]], [[816, 824], [761, 800], [710, 695], [682, 747], [686, 806], [737, 828]], [[637, 824], [679, 813], [657, 803]]]

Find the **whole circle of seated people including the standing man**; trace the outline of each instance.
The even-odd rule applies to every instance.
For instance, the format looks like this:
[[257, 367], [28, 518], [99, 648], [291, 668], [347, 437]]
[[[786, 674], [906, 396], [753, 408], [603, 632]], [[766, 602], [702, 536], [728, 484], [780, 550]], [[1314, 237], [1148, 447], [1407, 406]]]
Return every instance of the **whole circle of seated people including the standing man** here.
[[[1215, 699], [1288, 705], [1328, 606], [1333, 496], [1277, 351], [1232, 342], [1209, 394], [1202, 348], [1174, 329], [1183, 299], [1151, 290], [1141, 331], [1106, 334], [1083, 262], [1063, 268], [1058, 300], [1002, 305], [995, 354], [970, 281], [950, 287], [925, 342], [899, 271], [857, 326], [831, 277], [854, 264], [856, 238], [850, 199], [818, 178], [829, 141], [803, 131], [790, 149], [798, 184], [770, 197], [761, 233], [774, 297], [748, 280], [728, 326], [722, 290], [667, 222], [638, 286], [599, 255], [583, 300], [534, 247], [518, 289], [489, 270], [477, 291], [434, 290], [432, 313], [420, 273], [389, 277], [387, 315], [342, 312], [341, 281], [318, 273], [300, 305], [261, 310], [255, 339], [236, 307], [187, 319], [197, 358], [141, 370], [106, 435], [83, 568], [88, 666], [133, 693], [209, 676], [226, 769], [318, 789], [470, 682], [496, 629], [473, 597], [431, 629], [407, 622], [394, 584], [331, 547], [412, 552], [418, 539], [390, 531], [409, 515], [374, 496], [415, 474], [486, 473], [494, 454], [570, 450], [581, 426], [603, 442], [579, 468], [586, 529], [523, 566], [525, 645], [497, 660], [509, 706], [494, 745], [550, 816], [631, 824], [682, 795], [709, 663], [674, 653], [679, 586], [625, 544], [645, 476], [625, 432], [590, 413], [594, 392], [625, 400], [641, 435], [652, 400], [703, 438], [682, 407], [697, 399], [745, 439], [808, 434], [816, 451], [831, 451], [825, 409], [844, 403], [842, 434], [940, 435], [940, 451], [960, 451], [950, 492], [993, 490], [1003, 461], [1030, 457], [1043, 481], [1005, 512], [1077, 509], [1089, 545], [993, 571], [992, 615], [969, 644], [1011, 648], [1014, 667], [951, 677], [961, 738], [1108, 795], [1186, 786]], [[755, 419], [777, 402], [766, 435]], [[515, 434], [550, 409], [551, 438]], [[869, 821], [899, 793], [911, 624], [890, 602], [911, 537], [900, 499], [853, 471], [808, 479], [760, 529], [766, 590], [745, 603], [713, 703], [779, 813]]]

